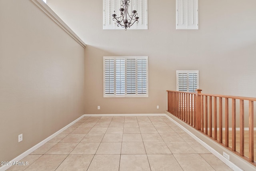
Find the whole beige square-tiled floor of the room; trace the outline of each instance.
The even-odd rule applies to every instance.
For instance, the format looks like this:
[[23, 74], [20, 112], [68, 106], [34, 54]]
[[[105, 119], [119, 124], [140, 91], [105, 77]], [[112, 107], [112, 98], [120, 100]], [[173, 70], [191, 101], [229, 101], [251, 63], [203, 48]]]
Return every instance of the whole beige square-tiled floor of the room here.
[[229, 171], [165, 116], [84, 117], [8, 171]]

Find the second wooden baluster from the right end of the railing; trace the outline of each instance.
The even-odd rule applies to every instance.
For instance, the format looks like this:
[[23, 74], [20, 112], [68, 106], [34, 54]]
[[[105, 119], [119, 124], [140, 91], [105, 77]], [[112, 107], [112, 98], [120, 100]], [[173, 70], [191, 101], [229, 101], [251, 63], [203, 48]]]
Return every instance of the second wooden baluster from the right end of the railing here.
[[244, 100], [240, 100], [240, 155], [244, 156]]

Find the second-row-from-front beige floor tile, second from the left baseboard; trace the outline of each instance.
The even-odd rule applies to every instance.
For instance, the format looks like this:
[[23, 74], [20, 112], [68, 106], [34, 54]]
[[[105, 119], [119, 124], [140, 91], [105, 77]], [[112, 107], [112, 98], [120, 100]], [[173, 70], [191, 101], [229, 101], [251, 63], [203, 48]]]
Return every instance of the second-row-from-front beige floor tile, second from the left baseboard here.
[[78, 143], [58, 143], [54, 145], [46, 154], [70, 154]]

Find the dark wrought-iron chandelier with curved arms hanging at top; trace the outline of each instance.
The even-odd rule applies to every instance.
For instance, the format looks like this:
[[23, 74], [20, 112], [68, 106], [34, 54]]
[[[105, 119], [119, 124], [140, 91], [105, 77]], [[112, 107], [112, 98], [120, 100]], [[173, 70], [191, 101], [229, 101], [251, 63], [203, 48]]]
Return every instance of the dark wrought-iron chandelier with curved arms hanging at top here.
[[139, 17], [137, 11], [135, 10], [135, 6], [134, 9], [132, 10], [132, 14], [129, 14], [129, 3], [130, 0], [122, 0], [122, 6], [119, 9], [121, 15], [120, 17], [116, 17], [115, 11], [114, 14], [112, 14], [113, 20], [116, 19], [117, 26], [119, 27], [120, 25], [122, 28], [125, 28], [125, 31], [127, 30], [127, 28], [130, 28], [130, 26], [132, 26], [135, 22], [139, 22]]

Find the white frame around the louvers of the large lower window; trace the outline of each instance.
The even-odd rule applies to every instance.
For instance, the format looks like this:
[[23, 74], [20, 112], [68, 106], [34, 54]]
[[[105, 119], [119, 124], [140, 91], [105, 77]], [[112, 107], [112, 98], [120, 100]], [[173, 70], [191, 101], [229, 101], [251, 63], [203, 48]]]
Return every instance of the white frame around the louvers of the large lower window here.
[[[105, 76], [105, 61], [108, 59], [114, 59], [114, 94], [106, 94], [106, 76]], [[124, 94], [116, 94], [116, 59], [125, 59], [125, 90]], [[127, 59], [135, 59], [136, 61], [136, 93], [128, 94], [127, 93]], [[138, 59], [146, 59], [146, 93], [140, 94], [138, 93]], [[104, 56], [103, 57], [103, 97], [148, 97], [148, 56]]]

